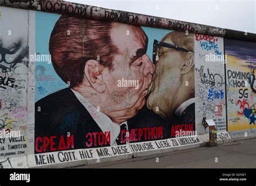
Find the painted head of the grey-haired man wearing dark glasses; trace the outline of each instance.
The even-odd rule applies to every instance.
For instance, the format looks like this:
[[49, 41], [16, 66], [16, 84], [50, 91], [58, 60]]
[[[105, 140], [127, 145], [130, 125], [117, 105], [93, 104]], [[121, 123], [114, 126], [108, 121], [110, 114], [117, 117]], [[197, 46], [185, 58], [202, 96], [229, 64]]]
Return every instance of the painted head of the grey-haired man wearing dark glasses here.
[[[162, 42], [157, 42], [156, 73], [151, 85], [147, 107], [163, 118], [181, 116], [184, 110], [179, 106], [194, 98], [194, 35], [182, 32], [166, 34]], [[176, 42], [174, 44], [174, 42]], [[155, 44], [155, 45], [157, 45]], [[180, 45], [186, 48], [177, 48]], [[190, 51], [189, 51], [190, 49]], [[188, 84], [187, 86], [184, 86]], [[187, 87], [187, 88], [185, 88]], [[161, 97], [161, 99], [159, 99]], [[191, 106], [194, 115], [194, 101]], [[183, 116], [185, 117], [185, 116]], [[194, 120], [192, 117], [191, 119]]]

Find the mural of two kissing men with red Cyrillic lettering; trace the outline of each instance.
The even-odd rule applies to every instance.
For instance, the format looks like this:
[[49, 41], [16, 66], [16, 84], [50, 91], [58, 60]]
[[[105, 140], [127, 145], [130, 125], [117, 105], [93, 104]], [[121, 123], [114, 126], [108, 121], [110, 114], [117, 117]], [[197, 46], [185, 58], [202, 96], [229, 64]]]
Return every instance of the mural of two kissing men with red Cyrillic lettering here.
[[[129, 145], [195, 130], [194, 35], [165, 31], [149, 38], [152, 29], [58, 18], [49, 37], [50, 75], [57, 73], [66, 88], [46, 90], [40, 80], [49, 67], [36, 64], [35, 153]], [[155, 39], [161, 39], [157, 46]]]

